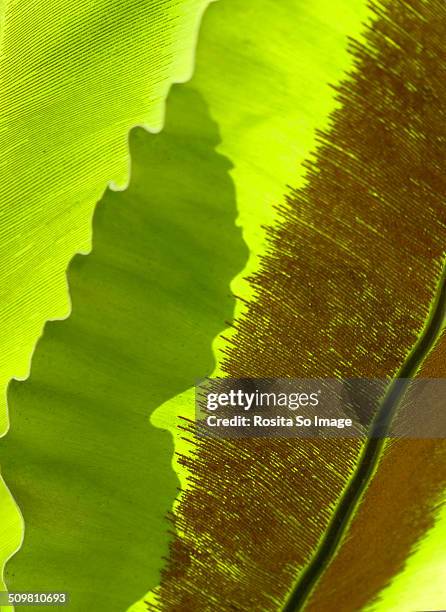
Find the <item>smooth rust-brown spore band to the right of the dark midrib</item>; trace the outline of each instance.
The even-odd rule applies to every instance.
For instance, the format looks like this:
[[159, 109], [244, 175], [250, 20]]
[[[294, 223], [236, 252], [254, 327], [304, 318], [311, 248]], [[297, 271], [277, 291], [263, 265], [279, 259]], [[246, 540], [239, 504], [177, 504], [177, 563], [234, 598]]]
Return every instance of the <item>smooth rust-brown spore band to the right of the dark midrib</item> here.
[[[446, 377], [446, 332], [418, 377]], [[446, 412], [443, 396], [424, 407], [424, 416], [429, 419], [440, 410]], [[388, 440], [379, 478], [372, 480], [348, 538], [319, 581], [306, 612], [363, 609], [388, 578], [402, 570], [407, 551], [434, 525], [444, 503], [439, 493], [445, 487], [446, 440]]]

